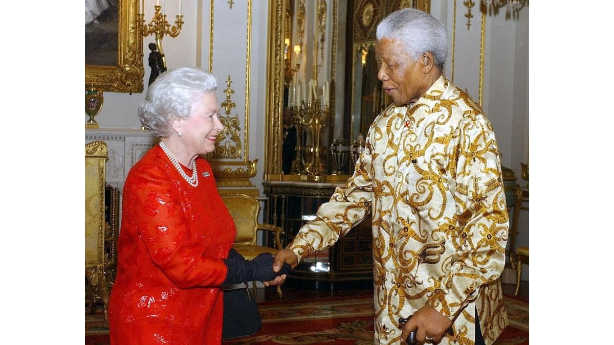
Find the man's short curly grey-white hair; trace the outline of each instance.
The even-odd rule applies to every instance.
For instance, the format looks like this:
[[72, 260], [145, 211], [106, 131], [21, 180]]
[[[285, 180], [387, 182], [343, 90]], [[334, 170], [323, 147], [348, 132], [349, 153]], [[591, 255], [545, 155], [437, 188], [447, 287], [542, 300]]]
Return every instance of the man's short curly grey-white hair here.
[[414, 61], [426, 52], [433, 54], [435, 66], [443, 70], [448, 57], [448, 34], [441, 21], [424, 11], [402, 9], [389, 14], [378, 24], [378, 41], [396, 39], [405, 45]]

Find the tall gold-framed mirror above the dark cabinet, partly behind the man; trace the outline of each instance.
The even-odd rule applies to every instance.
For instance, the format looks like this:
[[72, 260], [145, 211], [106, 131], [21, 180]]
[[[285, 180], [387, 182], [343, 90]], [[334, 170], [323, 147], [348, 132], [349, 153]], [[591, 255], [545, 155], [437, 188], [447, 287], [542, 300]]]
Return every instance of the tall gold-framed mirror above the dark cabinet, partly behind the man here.
[[430, 0], [270, 2], [265, 180], [353, 172], [349, 151], [390, 103], [377, 79], [375, 29], [403, 7], [430, 12]]

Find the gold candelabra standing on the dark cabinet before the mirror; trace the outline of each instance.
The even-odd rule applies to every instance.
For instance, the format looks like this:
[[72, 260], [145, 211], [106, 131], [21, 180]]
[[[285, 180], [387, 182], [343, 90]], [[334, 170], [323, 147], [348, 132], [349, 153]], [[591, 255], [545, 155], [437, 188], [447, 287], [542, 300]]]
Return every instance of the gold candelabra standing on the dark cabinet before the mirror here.
[[[311, 102], [303, 101], [300, 106], [289, 107], [288, 111], [297, 128], [297, 156], [292, 162], [291, 171], [294, 174], [305, 175], [310, 180], [322, 182], [326, 176], [326, 168], [321, 158], [320, 140], [322, 127], [326, 125], [328, 120], [328, 104], [320, 107], [319, 99]], [[311, 147], [313, 151], [311, 152], [309, 162], [305, 160], [305, 147], [303, 147], [305, 128], [311, 130]]]

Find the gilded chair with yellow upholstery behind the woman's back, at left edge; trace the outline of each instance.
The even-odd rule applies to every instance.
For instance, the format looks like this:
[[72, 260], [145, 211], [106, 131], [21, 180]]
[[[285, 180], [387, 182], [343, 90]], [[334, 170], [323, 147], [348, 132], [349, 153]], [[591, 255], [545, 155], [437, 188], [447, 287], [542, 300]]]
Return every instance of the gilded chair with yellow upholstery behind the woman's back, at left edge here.
[[104, 322], [108, 324], [109, 285], [106, 279], [106, 222], [104, 219], [105, 168], [107, 144], [85, 144], [85, 278], [91, 287], [90, 311], [103, 302]]

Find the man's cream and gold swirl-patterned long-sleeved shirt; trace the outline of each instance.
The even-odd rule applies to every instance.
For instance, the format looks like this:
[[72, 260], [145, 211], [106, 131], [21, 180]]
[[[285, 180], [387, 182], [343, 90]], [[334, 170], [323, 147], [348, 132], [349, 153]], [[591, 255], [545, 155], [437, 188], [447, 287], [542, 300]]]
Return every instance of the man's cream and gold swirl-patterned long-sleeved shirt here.
[[491, 123], [441, 76], [411, 107], [376, 117], [356, 171], [289, 248], [332, 246], [371, 212], [375, 343], [398, 344], [398, 318], [429, 303], [453, 321], [440, 344], [486, 344], [507, 325], [499, 275], [508, 215]]

